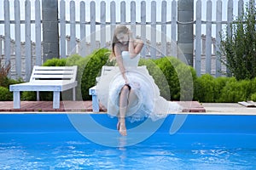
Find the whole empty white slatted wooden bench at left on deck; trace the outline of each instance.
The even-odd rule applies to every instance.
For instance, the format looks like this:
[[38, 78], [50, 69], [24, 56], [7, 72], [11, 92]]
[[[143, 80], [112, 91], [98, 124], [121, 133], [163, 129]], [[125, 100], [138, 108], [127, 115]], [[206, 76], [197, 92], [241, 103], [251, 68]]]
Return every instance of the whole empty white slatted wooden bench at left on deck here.
[[9, 91], [14, 92], [14, 108], [20, 109], [20, 92], [36, 91], [39, 100], [39, 91], [53, 92], [53, 108], [60, 108], [60, 92], [73, 88], [73, 100], [75, 100], [75, 88], [78, 66], [34, 66], [29, 82], [13, 84]]

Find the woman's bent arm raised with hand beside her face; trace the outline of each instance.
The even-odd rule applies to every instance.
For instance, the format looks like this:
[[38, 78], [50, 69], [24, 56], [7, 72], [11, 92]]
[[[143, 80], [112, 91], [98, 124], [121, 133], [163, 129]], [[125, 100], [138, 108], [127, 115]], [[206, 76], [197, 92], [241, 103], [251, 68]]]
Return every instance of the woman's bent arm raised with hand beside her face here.
[[136, 57], [137, 54], [139, 54], [143, 48], [143, 41], [139, 39], [134, 39], [132, 36], [131, 31], [129, 31], [129, 45], [128, 50], [131, 54], [131, 58]]

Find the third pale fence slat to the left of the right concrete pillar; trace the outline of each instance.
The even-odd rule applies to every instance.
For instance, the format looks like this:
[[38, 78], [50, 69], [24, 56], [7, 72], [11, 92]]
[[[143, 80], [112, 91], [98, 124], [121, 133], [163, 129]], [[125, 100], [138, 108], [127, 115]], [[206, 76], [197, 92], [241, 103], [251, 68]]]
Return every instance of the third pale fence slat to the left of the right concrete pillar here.
[[151, 2], [151, 48], [150, 55], [152, 59], [156, 58], [156, 3]]

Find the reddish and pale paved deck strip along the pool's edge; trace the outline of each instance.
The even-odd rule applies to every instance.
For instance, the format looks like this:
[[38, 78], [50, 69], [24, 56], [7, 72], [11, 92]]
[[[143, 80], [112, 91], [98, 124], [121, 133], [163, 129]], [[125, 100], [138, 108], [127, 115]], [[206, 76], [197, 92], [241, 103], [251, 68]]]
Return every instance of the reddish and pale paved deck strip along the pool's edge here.
[[[202, 103], [197, 101], [177, 102], [183, 105], [179, 114], [227, 114], [256, 115], [255, 107], [246, 107], [238, 103]], [[13, 101], [0, 101], [0, 113], [34, 113], [34, 112], [79, 112], [92, 113], [91, 101], [61, 101], [60, 109], [52, 108], [52, 101], [21, 101], [20, 109], [13, 108]], [[100, 113], [106, 113], [101, 107]]]

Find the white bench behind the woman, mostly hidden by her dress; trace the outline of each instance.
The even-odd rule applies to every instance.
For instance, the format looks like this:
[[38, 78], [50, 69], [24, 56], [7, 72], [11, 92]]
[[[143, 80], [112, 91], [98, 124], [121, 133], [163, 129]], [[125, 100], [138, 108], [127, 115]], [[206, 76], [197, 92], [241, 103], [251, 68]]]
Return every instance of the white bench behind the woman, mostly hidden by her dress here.
[[[146, 68], [146, 65], [139, 66], [139, 67]], [[108, 72], [112, 71], [113, 69], [119, 69], [119, 68], [118, 68], [118, 66], [102, 66], [101, 77], [102, 77], [102, 75], [108, 74]], [[96, 82], [98, 82], [101, 77], [96, 77]], [[108, 90], [108, 89], [106, 89], [106, 90]], [[96, 86], [89, 88], [89, 95], [91, 95], [91, 97], [92, 97], [92, 111], [99, 112], [100, 105], [99, 105], [99, 99], [97, 98], [97, 94], [96, 94]]]

